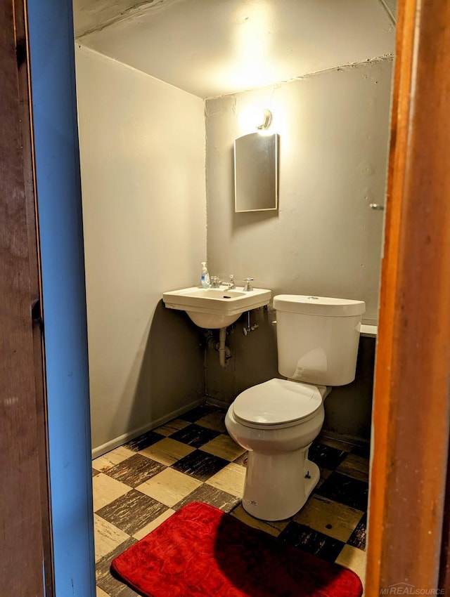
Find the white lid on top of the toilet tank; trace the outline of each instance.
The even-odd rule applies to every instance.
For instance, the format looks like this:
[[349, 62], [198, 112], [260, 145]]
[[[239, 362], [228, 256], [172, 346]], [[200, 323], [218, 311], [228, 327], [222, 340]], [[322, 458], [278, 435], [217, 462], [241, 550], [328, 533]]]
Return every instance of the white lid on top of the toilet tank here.
[[306, 294], [278, 294], [274, 296], [274, 309], [302, 315], [323, 315], [325, 317], [352, 317], [362, 315], [366, 310], [364, 301], [328, 296], [307, 296]]

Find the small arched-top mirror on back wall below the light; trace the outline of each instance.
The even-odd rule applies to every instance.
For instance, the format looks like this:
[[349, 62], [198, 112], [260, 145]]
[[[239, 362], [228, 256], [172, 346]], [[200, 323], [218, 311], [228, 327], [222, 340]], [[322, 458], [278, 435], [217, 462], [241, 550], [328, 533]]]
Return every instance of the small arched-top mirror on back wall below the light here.
[[278, 209], [278, 135], [250, 133], [234, 142], [235, 210]]

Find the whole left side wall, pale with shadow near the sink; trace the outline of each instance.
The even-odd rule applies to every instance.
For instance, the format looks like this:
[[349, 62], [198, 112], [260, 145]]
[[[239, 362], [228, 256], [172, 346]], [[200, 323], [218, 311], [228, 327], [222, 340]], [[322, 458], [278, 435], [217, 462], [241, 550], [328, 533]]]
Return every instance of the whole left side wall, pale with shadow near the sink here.
[[206, 254], [203, 100], [77, 46], [93, 447], [203, 393], [184, 314], [162, 292]]

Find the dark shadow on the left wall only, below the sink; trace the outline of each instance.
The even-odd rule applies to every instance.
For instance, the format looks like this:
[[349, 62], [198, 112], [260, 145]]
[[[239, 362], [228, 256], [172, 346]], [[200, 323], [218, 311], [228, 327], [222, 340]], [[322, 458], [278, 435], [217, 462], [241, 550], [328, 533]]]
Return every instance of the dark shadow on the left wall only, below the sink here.
[[[158, 302], [136, 381], [134, 428], [172, 416], [204, 400], [204, 352], [200, 330], [184, 311]], [[136, 415], [141, 424], [136, 426]], [[148, 426], [148, 425], [147, 425]]]

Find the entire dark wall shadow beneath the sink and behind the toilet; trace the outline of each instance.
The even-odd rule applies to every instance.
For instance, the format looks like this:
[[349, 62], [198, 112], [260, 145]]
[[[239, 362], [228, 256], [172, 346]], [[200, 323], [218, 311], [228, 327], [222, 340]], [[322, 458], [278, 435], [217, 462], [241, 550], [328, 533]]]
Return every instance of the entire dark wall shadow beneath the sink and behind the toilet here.
[[[233, 357], [222, 369], [216, 350], [207, 348], [205, 357], [202, 330], [184, 311], [167, 309], [160, 301], [136, 375], [129, 428], [158, 426], [162, 419], [203, 402], [205, 395], [226, 407], [250, 386], [281, 377], [275, 317], [274, 309], [259, 308], [251, 312], [251, 324], [258, 327], [250, 334], [243, 334], [245, 313], [229, 327], [226, 344]], [[217, 336], [218, 332], [214, 330]], [[370, 440], [374, 362], [375, 339], [361, 336], [356, 378], [347, 386], [333, 388], [326, 399], [324, 433], [347, 441]]]

